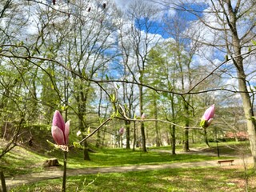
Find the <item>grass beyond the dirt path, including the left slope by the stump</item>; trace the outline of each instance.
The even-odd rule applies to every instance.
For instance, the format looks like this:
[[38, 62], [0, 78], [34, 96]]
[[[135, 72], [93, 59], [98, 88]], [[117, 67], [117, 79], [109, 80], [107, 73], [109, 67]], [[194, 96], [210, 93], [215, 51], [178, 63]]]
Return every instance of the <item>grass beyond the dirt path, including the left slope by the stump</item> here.
[[[202, 144], [201, 144], [202, 145]], [[245, 149], [244, 143], [235, 145], [242, 145]], [[237, 150], [226, 147], [220, 143], [221, 154], [235, 154]], [[234, 143], [232, 143], [234, 146]], [[179, 146], [181, 148], [181, 146]], [[194, 147], [194, 146], [191, 146]], [[198, 148], [201, 146], [198, 145]], [[170, 150], [170, 146], [154, 148], [160, 150]], [[214, 147], [206, 149], [203, 152], [214, 151], [213, 156], [199, 155], [199, 154], [177, 154], [171, 155], [170, 153], [160, 153], [156, 150], [149, 150], [147, 153], [142, 153], [140, 150], [132, 151], [125, 149], [102, 149], [97, 150], [97, 153], [90, 153], [91, 161], [83, 160], [82, 150], [73, 149], [68, 154], [68, 169], [81, 169], [85, 167], [104, 167], [104, 166], [129, 166], [129, 165], [142, 165], [142, 164], [163, 164], [174, 162], [198, 162], [218, 159], [217, 150]], [[36, 154], [21, 147], [15, 147], [10, 153], [6, 154], [4, 158], [0, 159], [0, 169], [4, 170], [6, 177], [15, 174], [29, 174], [33, 172], [40, 172], [45, 170], [42, 163], [47, 158], [58, 158], [58, 161], [63, 164], [63, 154], [60, 150], [53, 150], [48, 154]], [[221, 155], [225, 158], [225, 155]], [[62, 166], [59, 167], [62, 169]]]

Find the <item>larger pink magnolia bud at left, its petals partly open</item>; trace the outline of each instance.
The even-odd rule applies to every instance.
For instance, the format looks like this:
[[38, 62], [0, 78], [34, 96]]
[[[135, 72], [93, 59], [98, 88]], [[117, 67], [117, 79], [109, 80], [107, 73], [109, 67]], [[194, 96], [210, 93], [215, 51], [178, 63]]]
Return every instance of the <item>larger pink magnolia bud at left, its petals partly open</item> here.
[[65, 124], [62, 114], [58, 110], [54, 113], [51, 134], [58, 145], [67, 146], [70, 134], [70, 121], [67, 121]]

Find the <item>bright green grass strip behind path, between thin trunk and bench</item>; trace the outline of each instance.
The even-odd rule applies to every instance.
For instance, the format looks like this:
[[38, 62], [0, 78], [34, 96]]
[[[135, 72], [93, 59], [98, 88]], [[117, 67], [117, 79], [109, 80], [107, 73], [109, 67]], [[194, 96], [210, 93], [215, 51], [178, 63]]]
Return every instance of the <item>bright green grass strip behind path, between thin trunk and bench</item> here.
[[68, 167], [74, 169], [89, 166], [129, 166], [174, 162], [198, 162], [218, 159], [217, 156], [210, 157], [198, 154], [171, 155], [170, 153], [160, 153], [157, 151], [148, 151], [146, 153], [142, 153], [141, 151], [132, 151], [125, 149], [100, 150], [98, 151], [98, 153], [90, 154], [90, 158], [91, 161], [83, 161], [82, 153], [76, 153], [75, 151], [71, 151], [68, 159]]

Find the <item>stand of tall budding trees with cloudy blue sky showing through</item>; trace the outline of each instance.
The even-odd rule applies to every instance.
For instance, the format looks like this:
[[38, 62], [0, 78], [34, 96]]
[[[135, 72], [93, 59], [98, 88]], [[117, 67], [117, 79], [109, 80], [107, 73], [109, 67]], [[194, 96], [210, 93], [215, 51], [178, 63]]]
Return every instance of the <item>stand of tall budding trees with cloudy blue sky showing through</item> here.
[[82, 138], [114, 117], [94, 135], [96, 146], [118, 138], [124, 126], [126, 148], [167, 142], [175, 154], [175, 143], [187, 151], [203, 138], [198, 122], [215, 103], [214, 129], [242, 129], [246, 121], [256, 162], [254, 13], [254, 1], [239, 0], [125, 7], [98, 0], [0, 2], [1, 136], [16, 131], [2, 151], [17, 144], [22, 127], [50, 127], [54, 110], [61, 110], [71, 134], [80, 130]]

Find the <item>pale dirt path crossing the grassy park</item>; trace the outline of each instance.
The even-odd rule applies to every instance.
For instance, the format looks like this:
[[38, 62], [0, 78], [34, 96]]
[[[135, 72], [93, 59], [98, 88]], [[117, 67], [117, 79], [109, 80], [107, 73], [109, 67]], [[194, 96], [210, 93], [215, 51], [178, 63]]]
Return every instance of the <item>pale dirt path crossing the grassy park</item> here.
[[[117, 173], [117, 172], [127, 172], [127, 171], [138, 171], [138, 170], [159, 170], [159, 169], [172, 169], [172, 168], [191, 168], [191, 167], [206, 167], [206, 166], [218, 166], [218, 160], [206, 161], [206, 162], [177, 162], [172, 164], [162, 164], [162, 165], [141, 165], [141, 166], [111, 166], [102, 168], [85, 168], [68, 170], [67, 175], [73, 176], [78, 174], [105, 174], [105, 173]], [[239, 158], [234, 159], [234, 165], [243, 165], [243, 163], [250, 164], [253, 162], [252, 158], [246, 158], [245, 161]], [[228, 163], [222, 166], [229, 166]], [[61, 178], [62, 170], [51, 170], [44, 171], [37, 174], [23, 174], [17, 175], [13, 178], [6, 178], [6, 186], [8, 189], [23, 185], [30, 182], [38, 182], [47, 179]]]

